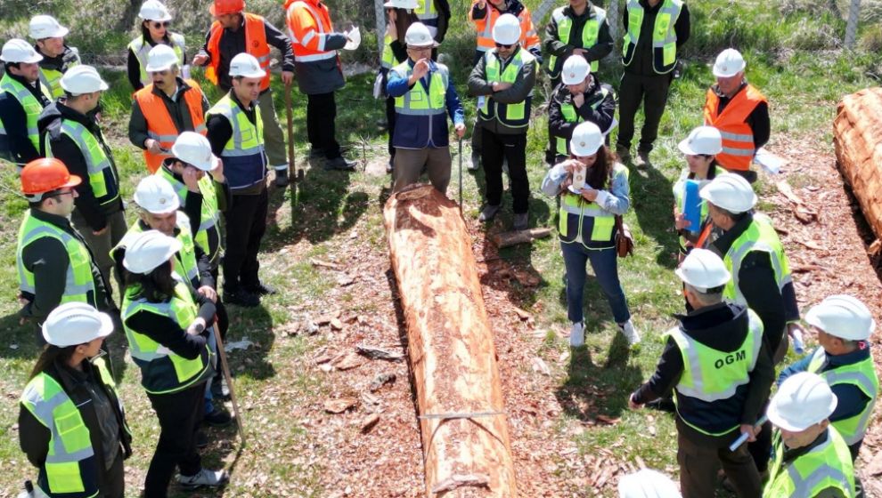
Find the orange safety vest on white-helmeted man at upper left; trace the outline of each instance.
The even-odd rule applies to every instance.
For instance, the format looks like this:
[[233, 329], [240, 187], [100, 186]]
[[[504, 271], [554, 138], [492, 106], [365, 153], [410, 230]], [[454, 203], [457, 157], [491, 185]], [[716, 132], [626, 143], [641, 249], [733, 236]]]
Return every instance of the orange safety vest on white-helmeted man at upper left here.
[[[184, 92], [184, 102], [190, 109], [190, 119], [193, 124], [193, 132], [200, 133], [205, 136], [208, 129], [205, 127], [205, 113], [202, 112], [202, 89], [199, 84], [192, 79], [184, 80], [191, 86], [191, 90]], [[187, 130], [178, 130], [175, 122], [172, 121], [168, 114], [165, 102], [159, 95], [153, 93], [153, 84], [148, 84], [141, 90], [135, 92], [135, 100], [141, 107], [141, 112], [147, 120], [147, 135], [155, 141], [159, 141], [159, 147], [165, 150], [171, 150], [175, 144], [177, 136], [181, 132]], [[156, 173], [162, 161], [171, 154], [152, 154], [144, 150], [144, 161], [147, 163], [147, 169], [150, 173]]]

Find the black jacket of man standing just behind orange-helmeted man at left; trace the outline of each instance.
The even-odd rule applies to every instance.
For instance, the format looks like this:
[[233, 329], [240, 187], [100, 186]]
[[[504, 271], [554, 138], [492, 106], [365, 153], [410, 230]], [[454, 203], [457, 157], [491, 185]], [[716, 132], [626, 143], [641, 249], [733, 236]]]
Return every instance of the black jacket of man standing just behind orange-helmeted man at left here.
[[[117, 200], [107, 204], [100, 205], [95, 199], [92, 185], [89, 183], [89, 172], [86, 166], [86, 157], [83, 151], [79, 149], [77, 142], [70, 139], [69, 136], [61, 133], [61, 120], [69, 119], [76, 121], [86, 127], [95, 139], [101, 143], [104, 154], [110, 161], [110, 167], [113, 168], [113, 176], [119, 178], [117, 165], [113, 160], [113, 153], [110, 151], [110, 145], [104, 141], [101, 128], [95, 121], [94, 116], [86, 116], [73, 108], [64, 105], [63, 100], [57, 100], [43, 109], [40, 120], [37, 123], [40, 129], [40, 152], [45, 155], [45, 137], [49, 135], [50, 147], [52, 147], [53, 157], [57, 157], [64, 165], [68, 167], [70, 174], [76, 174], [83, 179], [83, 182], [77, 186], [79, 197], [74, 201], [77, 205], [79, 213], [83, 215], [86, 222], [93, 230], [98, 231], [107, 226], [108, 215], [123, 210], [122, 196]], [[117, 189], [118, 189], [117, 185]]]

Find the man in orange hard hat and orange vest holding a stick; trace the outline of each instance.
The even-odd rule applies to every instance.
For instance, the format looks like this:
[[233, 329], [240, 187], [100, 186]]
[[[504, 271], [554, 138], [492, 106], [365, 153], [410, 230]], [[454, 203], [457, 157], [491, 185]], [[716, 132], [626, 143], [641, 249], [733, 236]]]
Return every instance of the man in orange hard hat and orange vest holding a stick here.
[[285, 187], [288, 185], [288, 153], [282, 125], [273, 105], [269, 63], [270, 48], [279, 49], [282, 52], [282, 83], [288, 85], [294, 81], [294, 52], [290, 39], [268, 20], [245, 12], [244, 0], [215, 0], [208, 11], [215, 16], [215, 21], [208, 29], [205, 44], [193, 58], [193, 65], [204, 67], [208, 80], [223, 92], [229, 92], [233, 88], [229, 76], [233, 57], [247, 52], [260, 62], [265, 76], [260, 81], [257, 108], [264, 122], [266, 159], [275, 171], [276, 186]]

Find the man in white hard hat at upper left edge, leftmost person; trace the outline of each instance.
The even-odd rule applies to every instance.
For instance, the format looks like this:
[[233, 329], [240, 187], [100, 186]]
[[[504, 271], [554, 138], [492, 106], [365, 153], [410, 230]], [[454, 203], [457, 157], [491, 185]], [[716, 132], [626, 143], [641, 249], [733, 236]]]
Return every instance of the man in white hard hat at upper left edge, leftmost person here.
[[43, 56], [28, 42], [12, 38], [0, 53], [4, 75], [0, 78], [0, 158], [18, 166], [43, 157], [37, 120], [52, 95], [40, 82]]

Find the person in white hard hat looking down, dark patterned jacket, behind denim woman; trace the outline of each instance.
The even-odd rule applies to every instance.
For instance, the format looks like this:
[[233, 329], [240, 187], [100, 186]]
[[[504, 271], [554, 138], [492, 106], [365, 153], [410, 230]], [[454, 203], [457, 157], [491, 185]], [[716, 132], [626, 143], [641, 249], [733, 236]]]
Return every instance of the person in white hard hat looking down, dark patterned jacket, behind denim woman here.
[[561, 83], [548, 104], [548, 150], [545, 160], [556, 165], [569, 157], [569, 138], [576, 125], [597, 124], [604, 135], [616, 125], [616, 92], [592, 75], [588, 61], [571, 55], [560, 69]]

